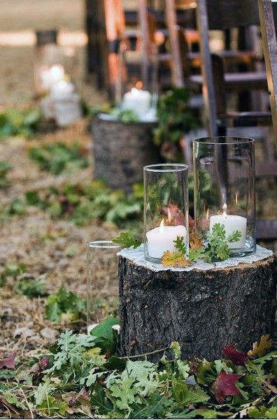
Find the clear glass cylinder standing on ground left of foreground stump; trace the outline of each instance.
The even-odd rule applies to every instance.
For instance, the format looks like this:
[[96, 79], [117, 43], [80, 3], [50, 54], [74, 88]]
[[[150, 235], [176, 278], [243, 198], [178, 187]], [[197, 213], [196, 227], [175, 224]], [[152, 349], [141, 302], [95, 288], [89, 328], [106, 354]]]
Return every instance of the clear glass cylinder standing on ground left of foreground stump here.
[[119, 251], [110, 240], [87, 243], [87, 333], [116, 309]]

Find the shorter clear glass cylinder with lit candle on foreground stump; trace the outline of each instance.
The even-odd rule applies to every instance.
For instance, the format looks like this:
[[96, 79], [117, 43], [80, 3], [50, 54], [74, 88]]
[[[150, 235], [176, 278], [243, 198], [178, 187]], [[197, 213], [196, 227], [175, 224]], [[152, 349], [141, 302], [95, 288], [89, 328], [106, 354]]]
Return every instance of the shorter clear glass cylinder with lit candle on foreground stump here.
[[184, 164], [143, 168], [145, 259], [160, 263], [164, 252], [176, 251], [183, 237], [188, 251], [187, 170]]

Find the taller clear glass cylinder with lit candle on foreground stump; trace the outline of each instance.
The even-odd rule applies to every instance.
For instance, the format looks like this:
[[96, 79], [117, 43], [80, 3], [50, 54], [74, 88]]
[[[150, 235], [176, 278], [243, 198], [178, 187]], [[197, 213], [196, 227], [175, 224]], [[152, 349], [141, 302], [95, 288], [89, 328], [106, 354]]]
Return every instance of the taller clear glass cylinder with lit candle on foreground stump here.
[[194, 223], [206, 238], [215, 224], [225, 227], [230, 256], [246, 256], [256, 249], [254, 140], [239, 137], [198, 138], [193, 142]]

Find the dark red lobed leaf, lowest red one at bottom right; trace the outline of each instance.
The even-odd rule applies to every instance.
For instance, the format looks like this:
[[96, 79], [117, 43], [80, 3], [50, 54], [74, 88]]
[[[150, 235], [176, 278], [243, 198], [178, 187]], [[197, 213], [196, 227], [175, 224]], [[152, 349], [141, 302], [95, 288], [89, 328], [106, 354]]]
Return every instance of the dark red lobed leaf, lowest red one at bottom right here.
[[215, 394], [215, 398], [219, 404], [224, 403], [224, 398], [227, 396], [238, 396], [241, 397], [241, 391], [236, 386], [236, 381], [239, 380], [243, 375], [237, 375], [236, 373], [227, 373], [222, 370], [218, 377], [211, 386], [211, 391]]

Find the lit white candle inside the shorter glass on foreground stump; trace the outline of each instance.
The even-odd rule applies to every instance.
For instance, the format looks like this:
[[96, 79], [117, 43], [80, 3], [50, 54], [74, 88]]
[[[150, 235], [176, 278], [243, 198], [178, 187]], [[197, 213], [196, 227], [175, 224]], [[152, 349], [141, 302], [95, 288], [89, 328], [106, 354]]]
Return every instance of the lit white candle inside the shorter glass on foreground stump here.
[[159, 227], [146, 233], [148, 254], [152, 258], [160, 259], [164, 252], [176, 251], [174, 240], [177, 236], [183, 236], [187, 242], [187, 229], [185, 226], [164, 226], [164, 220]]

